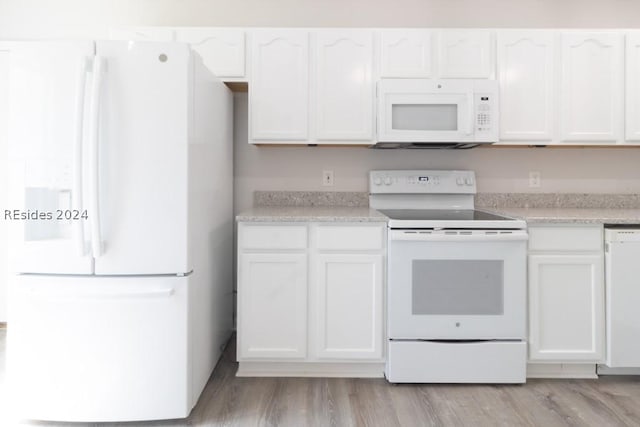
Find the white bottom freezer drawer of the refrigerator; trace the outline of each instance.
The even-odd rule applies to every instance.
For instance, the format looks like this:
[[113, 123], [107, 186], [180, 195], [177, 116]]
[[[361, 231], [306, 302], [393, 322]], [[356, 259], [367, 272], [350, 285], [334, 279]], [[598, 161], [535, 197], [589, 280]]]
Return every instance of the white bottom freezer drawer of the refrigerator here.
[[188, 416], [188, 281], [16, 276], [7, 364], [18, 415], [96, 422]]

